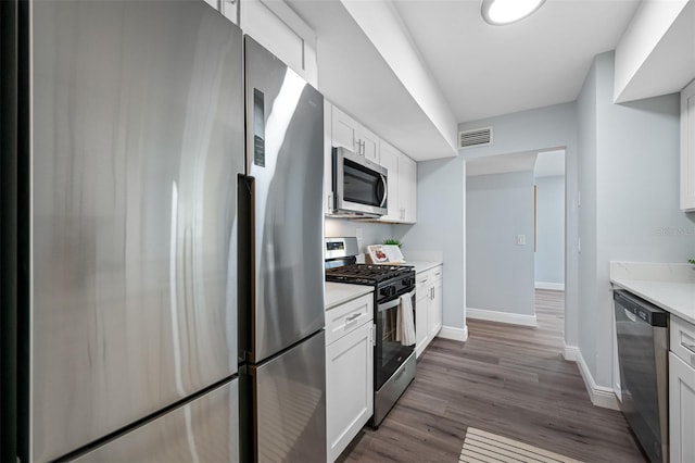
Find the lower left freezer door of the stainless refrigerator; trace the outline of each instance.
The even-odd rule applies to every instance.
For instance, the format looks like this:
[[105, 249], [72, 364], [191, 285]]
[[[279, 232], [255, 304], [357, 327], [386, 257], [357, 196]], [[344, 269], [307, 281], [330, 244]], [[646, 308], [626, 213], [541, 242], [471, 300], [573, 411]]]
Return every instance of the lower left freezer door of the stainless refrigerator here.
[[239, 380], [174, 409], [76, 462], [239, 461]]

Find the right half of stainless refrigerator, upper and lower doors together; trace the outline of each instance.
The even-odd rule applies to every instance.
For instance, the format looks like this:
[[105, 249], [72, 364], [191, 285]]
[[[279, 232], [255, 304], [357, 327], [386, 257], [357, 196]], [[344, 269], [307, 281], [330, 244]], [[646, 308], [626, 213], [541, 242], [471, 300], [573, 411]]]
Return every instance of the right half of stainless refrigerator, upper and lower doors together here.
[[326, 461], [324, 99], [245, 37], [243, 461]]

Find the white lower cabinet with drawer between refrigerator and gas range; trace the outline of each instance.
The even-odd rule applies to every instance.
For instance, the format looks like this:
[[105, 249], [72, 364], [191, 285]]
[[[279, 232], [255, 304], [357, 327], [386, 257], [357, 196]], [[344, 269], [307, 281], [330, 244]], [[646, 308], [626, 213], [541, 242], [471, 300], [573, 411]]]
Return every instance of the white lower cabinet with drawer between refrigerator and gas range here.
[[332, 463], [374, 414], [372, 295], [326, 312], [326, 440]]

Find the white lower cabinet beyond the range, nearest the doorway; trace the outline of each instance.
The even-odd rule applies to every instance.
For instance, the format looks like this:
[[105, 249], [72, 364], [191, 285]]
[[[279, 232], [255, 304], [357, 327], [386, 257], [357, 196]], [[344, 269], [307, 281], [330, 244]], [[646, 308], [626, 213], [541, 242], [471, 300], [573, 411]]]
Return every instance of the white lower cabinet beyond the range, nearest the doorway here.
[[422, 351], [442, 329], [442, 265], [416, 275], [415, 355]]

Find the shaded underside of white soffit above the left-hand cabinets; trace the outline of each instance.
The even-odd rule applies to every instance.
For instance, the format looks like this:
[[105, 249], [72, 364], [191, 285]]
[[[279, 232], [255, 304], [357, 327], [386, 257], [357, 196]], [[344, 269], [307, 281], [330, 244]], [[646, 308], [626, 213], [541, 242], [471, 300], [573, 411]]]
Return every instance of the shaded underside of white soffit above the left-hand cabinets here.
[[416, 161], [457, 155], [453, 114], [451, 124], [430, 117], [342, 2], [287, 2], [316, 33], [327, 99]]

